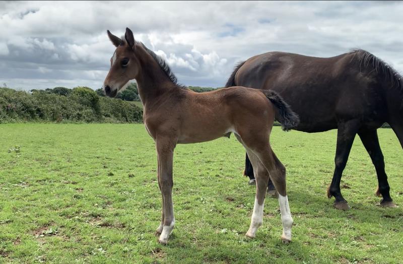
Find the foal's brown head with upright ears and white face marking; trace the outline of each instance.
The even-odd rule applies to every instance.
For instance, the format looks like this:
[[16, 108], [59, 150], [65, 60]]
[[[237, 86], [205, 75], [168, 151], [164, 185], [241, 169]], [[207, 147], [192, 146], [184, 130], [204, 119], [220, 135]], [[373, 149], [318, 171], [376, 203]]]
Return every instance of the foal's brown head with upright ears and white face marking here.
[[124, 40], [110, 33], [109, 30], [107, 32], [116, 50], [110, 59], [110, 69], [104, 81], [103, 91], [107, 96], [115, 97], [130, 80], [136, 79], [140, 63], [134, 52], [136, 41], [130, 29], [126, 28]]

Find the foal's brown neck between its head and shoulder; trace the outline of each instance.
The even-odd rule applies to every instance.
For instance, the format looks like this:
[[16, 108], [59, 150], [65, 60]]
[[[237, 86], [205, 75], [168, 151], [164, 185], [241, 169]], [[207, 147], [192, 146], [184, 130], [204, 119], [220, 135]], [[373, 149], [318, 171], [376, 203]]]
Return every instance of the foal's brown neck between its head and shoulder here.
[[137, 57], [140, 62], [139, 75], [136, 78], [140, 99], [143, 106], [150, 105], [166, 92], [176, 87], [161, 69], [158, 62], [145, 50], [138, 46]]

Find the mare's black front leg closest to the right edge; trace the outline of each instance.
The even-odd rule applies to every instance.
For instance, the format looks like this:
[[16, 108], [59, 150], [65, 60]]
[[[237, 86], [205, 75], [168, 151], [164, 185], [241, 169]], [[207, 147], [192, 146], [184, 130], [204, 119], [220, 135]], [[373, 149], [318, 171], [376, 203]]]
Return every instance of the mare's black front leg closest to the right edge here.
[[378, 134], [376, 129], [359, 131], [360, 136], [365, 149], [371, 157], [372, 163], [375, 166], [376, 175], [378, 177], [378, 189], [376, 194], [380, 196], [382, 194], [381, 206], [395, 207], [389, 194], [389, 184], [387, 182], [387, 176], [385, 172], [385, 163], [383, 161], [383, 154], [379, 146]]

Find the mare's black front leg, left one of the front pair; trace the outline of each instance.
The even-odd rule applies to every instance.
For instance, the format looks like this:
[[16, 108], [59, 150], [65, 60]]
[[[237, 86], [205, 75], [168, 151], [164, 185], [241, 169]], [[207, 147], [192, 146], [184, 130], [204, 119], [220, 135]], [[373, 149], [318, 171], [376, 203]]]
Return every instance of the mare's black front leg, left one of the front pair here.
[[334, 196], [334, 207], [341, 210], [350, 209], [340, 190], [340, 181], [342, 180], [342, 173], [346, 167], [358, 127], [359, 122], [357, 120], [349, 120], [339, 123], [337, 131], [337, 147], [334, 158], [335, 167], [330, 186], [327, 188], [327, 197]]

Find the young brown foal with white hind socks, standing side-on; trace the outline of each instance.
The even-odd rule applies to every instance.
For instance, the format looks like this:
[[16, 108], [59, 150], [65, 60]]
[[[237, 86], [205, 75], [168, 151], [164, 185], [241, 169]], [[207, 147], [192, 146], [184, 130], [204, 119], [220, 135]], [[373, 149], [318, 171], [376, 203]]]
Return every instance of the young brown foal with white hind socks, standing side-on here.
[[[269, 144], [275, 114], [290, 129], [296, 116], [276, 93], [232, 87], [196, 93], [176, 83], [166, 62], [135, 41], [126, 28], [124, 38], [108, 36], [116, 50], [104, 81], [104, 92], [114, 97], [126, 83], [136, 79], [144, 106], [144, 124], [154, 139], [158, 154], [158, 185], [162, 193], [159, 242], [166, 244], [175, 218], [172, 204], [172, 162], [176, 144], [206, 142], [234, 133], [245, 147], [256, 175], [256, 197], [247, 237], [254, 237], [263, 220], [267, 182], [272, 179], [279, 192], [283, 242], [291, 241], [290, 208], [286, 192], [286, 170]], [[239, 111], [239, 109], [243, 109]]]

